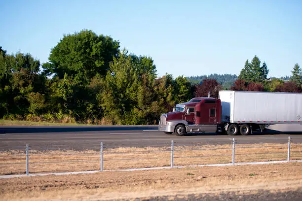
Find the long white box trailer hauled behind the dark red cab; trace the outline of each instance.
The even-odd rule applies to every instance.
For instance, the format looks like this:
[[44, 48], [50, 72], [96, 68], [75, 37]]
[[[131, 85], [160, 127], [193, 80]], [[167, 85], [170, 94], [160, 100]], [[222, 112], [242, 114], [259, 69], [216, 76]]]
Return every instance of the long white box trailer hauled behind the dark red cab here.
[[302, 93], [220, 91], [219, 99], [227, 134], [239, 128], [248, 134], [255, 125], [264, 130], [272, 124], [302, 124]]

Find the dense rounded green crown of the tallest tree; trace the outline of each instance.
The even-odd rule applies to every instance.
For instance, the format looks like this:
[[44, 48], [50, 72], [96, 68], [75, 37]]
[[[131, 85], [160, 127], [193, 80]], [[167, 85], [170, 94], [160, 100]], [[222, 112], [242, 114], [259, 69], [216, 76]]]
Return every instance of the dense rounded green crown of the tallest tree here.
[[64, 35], [51, 50], [49, 63], [43, 64], [45, 74], [63, 78], [74, 75], [77, 82], [89, 83], [97, 73], [106, 75], [110, 62], [117, 56], [119, 42], [110, 36], [83, 30]]

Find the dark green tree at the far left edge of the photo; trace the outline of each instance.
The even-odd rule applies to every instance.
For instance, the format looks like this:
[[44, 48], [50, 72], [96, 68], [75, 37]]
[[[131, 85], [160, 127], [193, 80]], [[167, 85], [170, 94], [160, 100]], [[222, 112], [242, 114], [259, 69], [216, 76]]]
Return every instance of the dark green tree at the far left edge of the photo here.
[[[29, 112], [29, 96], [32, 92], [44, 94], [46, 77], [39, 74], [40, 62], [30, 54], [0, 54], [0, 76], [2, 94], [6, 98], [6, 114], [25, 115]], [[2, 100], [3, 101], [3, 100]]]

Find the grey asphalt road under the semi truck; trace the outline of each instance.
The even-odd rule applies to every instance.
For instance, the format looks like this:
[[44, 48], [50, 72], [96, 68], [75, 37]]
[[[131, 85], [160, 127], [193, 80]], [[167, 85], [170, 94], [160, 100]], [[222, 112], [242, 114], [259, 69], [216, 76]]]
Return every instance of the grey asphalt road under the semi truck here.
[[[288, 136], [302, 142], [302, 125], [274, 125], [264, 133], [253, 133], [248, 136], [234, 136], [238, 143], [286, 143]], [[0, 127], [1, 147], [50, 145], [155, 145], [175, 144], [231, 143], [233, 136], [215, 133], [194, 133], [186, 136], [168, 135], [158, 131], [157, 126], [9, 126]]]

